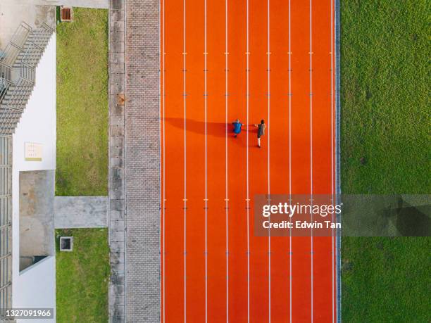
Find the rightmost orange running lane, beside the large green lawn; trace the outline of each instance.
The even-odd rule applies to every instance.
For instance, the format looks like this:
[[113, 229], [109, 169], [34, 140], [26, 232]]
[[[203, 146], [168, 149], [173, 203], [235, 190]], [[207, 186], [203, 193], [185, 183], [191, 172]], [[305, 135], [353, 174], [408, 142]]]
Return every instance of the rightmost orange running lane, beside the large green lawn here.
[[[333, 194], [332, 176], [332, 42], [331, 3], [313, 1], [311, 37], [313, 51], [313, 194]], [[327, 201], [330, 203], [330, 201]], [[313, 238], [313, 319], [335, 320], [335, 267], [332, 266], [335, 241], [331, 236]]]

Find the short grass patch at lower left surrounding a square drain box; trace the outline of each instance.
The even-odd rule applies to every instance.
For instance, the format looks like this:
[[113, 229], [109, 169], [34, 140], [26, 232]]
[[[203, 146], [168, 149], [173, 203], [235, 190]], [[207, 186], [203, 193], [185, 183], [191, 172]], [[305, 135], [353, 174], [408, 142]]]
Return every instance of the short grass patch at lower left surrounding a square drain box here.
[[[59, 236], [73, 236], [72, 252]], [[108, 229], [58, 229], [56, 251], [57, 322], [108, 322]]]

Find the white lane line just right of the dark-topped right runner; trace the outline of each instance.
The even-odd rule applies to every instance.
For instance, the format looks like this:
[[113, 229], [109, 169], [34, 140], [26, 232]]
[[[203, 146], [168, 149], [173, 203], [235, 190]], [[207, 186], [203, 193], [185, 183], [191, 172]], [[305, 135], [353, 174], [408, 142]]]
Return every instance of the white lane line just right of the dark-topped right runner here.
[[[270, 196], [270, 108], [271, 108], [271, 99], [270, 99], [270, 0], [268, 0], [267, 4], [268, 17], [267, 17], [267, 30], [268, 30], [268, 44], [267, 44], [267, 77], [268, 77], [268, 198]], [[268, 229], [268, 322], [271, 322], [271, 235], [270, 229]]]

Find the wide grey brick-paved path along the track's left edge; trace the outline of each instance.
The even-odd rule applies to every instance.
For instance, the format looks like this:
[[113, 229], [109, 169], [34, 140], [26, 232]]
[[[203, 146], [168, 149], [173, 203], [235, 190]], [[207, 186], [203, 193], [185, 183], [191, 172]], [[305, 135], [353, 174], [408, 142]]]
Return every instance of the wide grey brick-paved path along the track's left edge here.
[[158, 1], [126, 4], [127, 322], [160, 322]]

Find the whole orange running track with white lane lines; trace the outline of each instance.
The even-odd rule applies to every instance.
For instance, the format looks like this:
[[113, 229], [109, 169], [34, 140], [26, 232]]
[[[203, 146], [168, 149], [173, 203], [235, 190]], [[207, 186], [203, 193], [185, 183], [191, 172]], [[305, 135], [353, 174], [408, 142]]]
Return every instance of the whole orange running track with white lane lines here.
[[253, 234], [335, 194], [334, 1], [161, 1], [162, 322], [337, 321], [336, 238]]

